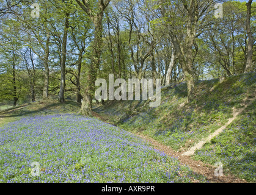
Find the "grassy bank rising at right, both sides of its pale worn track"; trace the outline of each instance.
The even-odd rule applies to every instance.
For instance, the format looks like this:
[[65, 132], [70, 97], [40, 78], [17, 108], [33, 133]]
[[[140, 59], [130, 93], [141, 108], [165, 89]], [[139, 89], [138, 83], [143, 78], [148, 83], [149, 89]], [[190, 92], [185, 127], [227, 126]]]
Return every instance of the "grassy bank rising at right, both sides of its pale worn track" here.
[[[186, 151], [223, 126], [232, 117], [232, 107], [241, 107], [246, 97], [254, 97], [255, 89], [256, 74], [243, 74], [221, 83], [218, 79], [198, 82], [190, 104], [186, 85], [181, 83], [162, 88], [159, 107], [150, 108], [147, 101], [112, 101], [96, 107], [95, 112], [125, 130], [141, 131], [177, 151]], [[254, 102], [213, 143], [196, 152], [195, 158], [213, 165], [221, 161], [224, 173], [255, 181], [255, 129]]]

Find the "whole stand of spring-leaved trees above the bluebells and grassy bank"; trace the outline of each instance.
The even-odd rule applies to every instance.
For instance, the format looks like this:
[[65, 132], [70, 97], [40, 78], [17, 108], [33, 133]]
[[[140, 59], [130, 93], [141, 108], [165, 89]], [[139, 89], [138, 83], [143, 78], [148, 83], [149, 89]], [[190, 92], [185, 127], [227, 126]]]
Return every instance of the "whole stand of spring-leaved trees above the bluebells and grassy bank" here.
[[109, 74], [161, 79], [162, 86], [185, 81], [192, 102], [199, 79], [255, 71], [251, 0], [33, 3], [0, 1], [0, 78], [7, 80], [0, 81], [0, 99], [9, 104], [72, 99], [90, 115], [95, 80]]

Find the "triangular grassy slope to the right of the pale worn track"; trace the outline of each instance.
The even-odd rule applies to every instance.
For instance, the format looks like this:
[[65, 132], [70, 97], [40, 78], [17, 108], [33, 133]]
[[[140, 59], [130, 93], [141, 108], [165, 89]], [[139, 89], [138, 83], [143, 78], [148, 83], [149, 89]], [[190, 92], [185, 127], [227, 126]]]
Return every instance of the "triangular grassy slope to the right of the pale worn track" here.
[[224, 170], [246, 179], [256, 181], [256, 101], [230, 124], [211, 143], [196, 152], [195, 159], [214, 165], [221, 161]]

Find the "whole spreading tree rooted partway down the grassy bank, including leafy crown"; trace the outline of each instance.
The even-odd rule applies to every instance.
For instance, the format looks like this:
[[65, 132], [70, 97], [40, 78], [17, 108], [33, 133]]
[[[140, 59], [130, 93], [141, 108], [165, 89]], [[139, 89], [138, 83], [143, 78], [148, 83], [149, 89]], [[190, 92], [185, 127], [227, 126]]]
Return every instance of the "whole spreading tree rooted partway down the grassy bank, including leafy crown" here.
[[[205, 26], [208, 26], [207, 18], [213, 14], [211, 7], [216, 2], [213, 0], [159, 1], [162, 19], [168, 26], [175, 52], [185, 75], [189, 102], [194, 99], [193, 61], [197, 53], [196, 39], [205, 30]], [[178, 38], [180, 34], [182, 38]]]

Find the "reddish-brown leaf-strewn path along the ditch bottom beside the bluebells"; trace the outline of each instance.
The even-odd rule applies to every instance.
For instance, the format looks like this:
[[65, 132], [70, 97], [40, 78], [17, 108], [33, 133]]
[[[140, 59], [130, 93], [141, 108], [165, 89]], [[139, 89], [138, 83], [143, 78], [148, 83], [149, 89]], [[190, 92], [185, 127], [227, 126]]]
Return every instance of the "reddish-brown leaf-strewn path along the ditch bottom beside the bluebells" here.
[[[135, 133], [137, 136], [147, 140], [153, 145], [153, 147], [159, 151], [164, 152], [171, 157], [177, 158], [183, 165], [188, 165], [193, 171], [198, 174], [202, 174], [207, 177], [207, 180], [211, 183], [247, 183], [244, 179], [239, 179], [232, 175], [224, 175], [222, 177], [214, 176], [214, 170], [216, 169], [213, 165], [203, 163], [199, 160], [194, 160], [189, 156], [182, 156], [181, 152], [174, 152], [169, 146], [165, 146], [153, 138], [142, 135], [141, 133]], [[225, 171], [225, 170], [224, 170]], [[192, 181], [194, 183], [199, 182], [198, 180]]]

